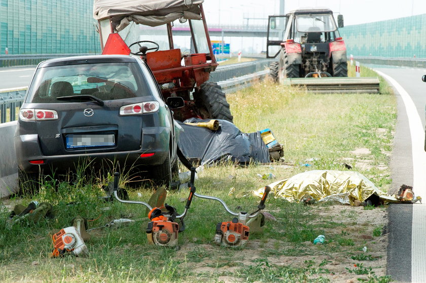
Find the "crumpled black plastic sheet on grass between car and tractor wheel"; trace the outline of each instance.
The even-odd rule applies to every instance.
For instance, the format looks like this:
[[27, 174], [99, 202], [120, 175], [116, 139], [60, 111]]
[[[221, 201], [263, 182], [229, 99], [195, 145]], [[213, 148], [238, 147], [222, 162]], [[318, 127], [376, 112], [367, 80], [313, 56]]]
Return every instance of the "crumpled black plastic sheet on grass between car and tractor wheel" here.
[[[190, 118], [185, 123], [208, 122]], [[242, 133], [234, 124], [219, 120], [218, 131], [187, 125], [179, 122], [184, 131], [179, 137], [179, 148], [191, 161], [200, 165], [209, 165], [223, 160], [231, 160], [238, 164], [250, 162], [268, 163], [268, 148], [262, 141], [260, 132]]]

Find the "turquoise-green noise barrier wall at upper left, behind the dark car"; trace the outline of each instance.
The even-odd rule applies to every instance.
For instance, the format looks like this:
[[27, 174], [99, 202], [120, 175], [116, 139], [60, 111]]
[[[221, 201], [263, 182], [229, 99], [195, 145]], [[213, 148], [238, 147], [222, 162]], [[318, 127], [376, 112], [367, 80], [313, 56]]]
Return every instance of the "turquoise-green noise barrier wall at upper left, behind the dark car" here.
[[100, 51], [92, 0], [0, 0], [0, 55]]

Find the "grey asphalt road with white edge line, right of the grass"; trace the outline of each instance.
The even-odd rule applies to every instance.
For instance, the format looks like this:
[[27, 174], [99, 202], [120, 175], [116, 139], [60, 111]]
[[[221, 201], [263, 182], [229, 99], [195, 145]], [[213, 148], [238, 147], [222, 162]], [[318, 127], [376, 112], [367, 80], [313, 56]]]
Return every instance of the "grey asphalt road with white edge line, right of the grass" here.
[[[390, 161], [393, 190], [402, 184], [410, 185], [416, 195], [426, 199], [426, 83], [421, 80], [426, 69], [372, 67], [392, 84], [398, 102]], [[426, 282], [426, 206], [390, 205], [386, 230], [389, 239], [387, 274], [399, 282]]]

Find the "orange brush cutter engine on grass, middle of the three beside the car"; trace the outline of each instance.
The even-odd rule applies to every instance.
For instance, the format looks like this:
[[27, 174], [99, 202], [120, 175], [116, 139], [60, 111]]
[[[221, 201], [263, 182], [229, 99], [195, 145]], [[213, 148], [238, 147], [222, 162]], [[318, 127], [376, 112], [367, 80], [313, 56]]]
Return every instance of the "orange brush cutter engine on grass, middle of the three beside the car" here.
[[179, 225], [171, 221], [176, 216], [174, 208], [167, 205], [165, 207], [168, 210], [167, 213], [159, 208], [153, 208], [148, 214], [148, 218], [151, 219], [146, 229], [148, 242], [157, 246], [175, 247]]

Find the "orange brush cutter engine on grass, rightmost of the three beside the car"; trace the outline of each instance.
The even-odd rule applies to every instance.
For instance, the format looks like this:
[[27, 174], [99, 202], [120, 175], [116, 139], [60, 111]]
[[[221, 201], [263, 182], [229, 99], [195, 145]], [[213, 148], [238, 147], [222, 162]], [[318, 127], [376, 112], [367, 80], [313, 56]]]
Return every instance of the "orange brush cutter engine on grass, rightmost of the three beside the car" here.
[[215, 242], [225, 247], [244, 246], [248, 241], [250, 228], [233, 218], [232, 221], [219, 222], [216, 226]]

